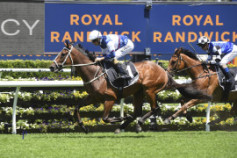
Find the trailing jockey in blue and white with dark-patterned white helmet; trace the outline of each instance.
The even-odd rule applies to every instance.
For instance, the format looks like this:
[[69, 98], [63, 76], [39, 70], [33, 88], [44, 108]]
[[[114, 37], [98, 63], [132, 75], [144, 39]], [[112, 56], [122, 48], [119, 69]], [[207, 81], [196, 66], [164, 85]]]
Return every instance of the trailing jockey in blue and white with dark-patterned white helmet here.
[[[225, 75], [225, 82], [230, 83], [232, 76], [230, 74], [229, 68], [227, 67], [227, 63], [232, 61], [237, 56], [237, 46], [231, 42], [210, 42], [206, 36], [200, 37], [198, 39], [197, 45], [208, 53], [208, 58], [206, 61], [207, 63], [219, 63], [220, 69]], [[216, 55], [215, 61], [212, 60], [213, 55]]]

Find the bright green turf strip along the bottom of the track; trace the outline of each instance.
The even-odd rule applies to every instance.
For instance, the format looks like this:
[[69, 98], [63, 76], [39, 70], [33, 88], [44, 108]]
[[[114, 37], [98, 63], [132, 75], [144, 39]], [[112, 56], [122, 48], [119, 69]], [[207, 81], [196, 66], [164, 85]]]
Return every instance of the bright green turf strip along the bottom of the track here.
[[1, 158], [236, 158], [237, 132], [0, 135]]

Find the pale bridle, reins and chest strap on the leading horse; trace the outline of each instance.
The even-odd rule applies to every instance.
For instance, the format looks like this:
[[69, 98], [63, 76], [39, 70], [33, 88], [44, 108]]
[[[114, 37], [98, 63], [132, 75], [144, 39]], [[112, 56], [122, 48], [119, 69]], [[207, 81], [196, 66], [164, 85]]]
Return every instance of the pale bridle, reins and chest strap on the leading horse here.
[[[76, 66], [79, 66], [79, 67], [80, 67], [80, 66], [89, 66], [89, 65], [95, 65], [95, 64], [96, 64], [96, 62], [92, 62], [92, 63], [88, 63], [88, 64], [74, 64], [73, 58], [72, 58], [72, 56], [71, 56], [72, 49], [73, 49], [73, 45], [71, 45], [71, 48], [70, 48], [70, 49], [67, 48], [67, 47], [64, 47], [64, 48], [62, 49], [62, 51], [63, 51], [63, 50], [67, 50], [68, 53], [67, 53], [67, 56], [65, 57], [64, 61], [63, 61], [61, 64], [58, 64], [57, 61], [56, 61], [56, 59], [57, 59], [58, 56], [62, 53], [62, 51], [61, 51], [61, 53], [58, 53], [58, 55], [55, 57], [54, 63], [55, 63], [56, 67], [57, 67], [59, 70], [61, 70], [63, 67], [76, 67]], [[70, 58], [72, 64], [71, 64], [71, 65], [64, 65], [64, 64], [66, 63], [68, 57]], [[94, 82], [95, 80], [97, 80], [98, 78], [100, 78], [101, 76], [103, 76], [103, 75], [105, 74], [105, 72], [102, 72], [101, 74], [98, 75], [99, 69], [100, 69], [100, 67], [97, 69], [97, 71], [96, 71], [96, 73], [95, 73], [95, 75], [94, 75], [94, 78], [93, 78], [92, 80], [88, 81], [88, 82], [84, 82], [84, 84], [90, 84], [90, 83]]]

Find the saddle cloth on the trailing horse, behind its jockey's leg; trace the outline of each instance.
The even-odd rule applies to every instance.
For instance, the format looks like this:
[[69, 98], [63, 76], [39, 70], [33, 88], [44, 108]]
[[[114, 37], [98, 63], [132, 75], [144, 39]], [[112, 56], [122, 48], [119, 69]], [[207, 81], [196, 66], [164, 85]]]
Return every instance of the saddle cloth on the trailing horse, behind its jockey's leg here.
[[[225, 79], [225, 76], [224, 76], [223, 72], [221, 71], [221, 69], [218, 66], [216, 66], [216, 70], [218, 72], [219, 84], [223, 89], [225, 89], [225, 84], [223, 83], [223, 80]], [[229, 70], [230, 70], [230, 73], [232, 74], [232, 77], [234, 79], [234, 82], [231, 82], [230, 90], [237, 90], [237, 67], [229, 68]]]

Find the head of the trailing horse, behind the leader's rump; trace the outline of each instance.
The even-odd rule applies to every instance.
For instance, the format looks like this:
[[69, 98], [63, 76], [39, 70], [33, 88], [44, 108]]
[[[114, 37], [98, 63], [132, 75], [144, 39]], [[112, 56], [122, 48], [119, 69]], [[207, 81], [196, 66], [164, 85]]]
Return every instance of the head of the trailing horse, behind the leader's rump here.
[[168, 72], [173, 73], [179, 70], [184, 69], [185, 63], [182, 59], [181, 53], [183, 48], [176, 48], [174, 54], [172, 55], [171, 59], [169, 60], [168, 65]]

